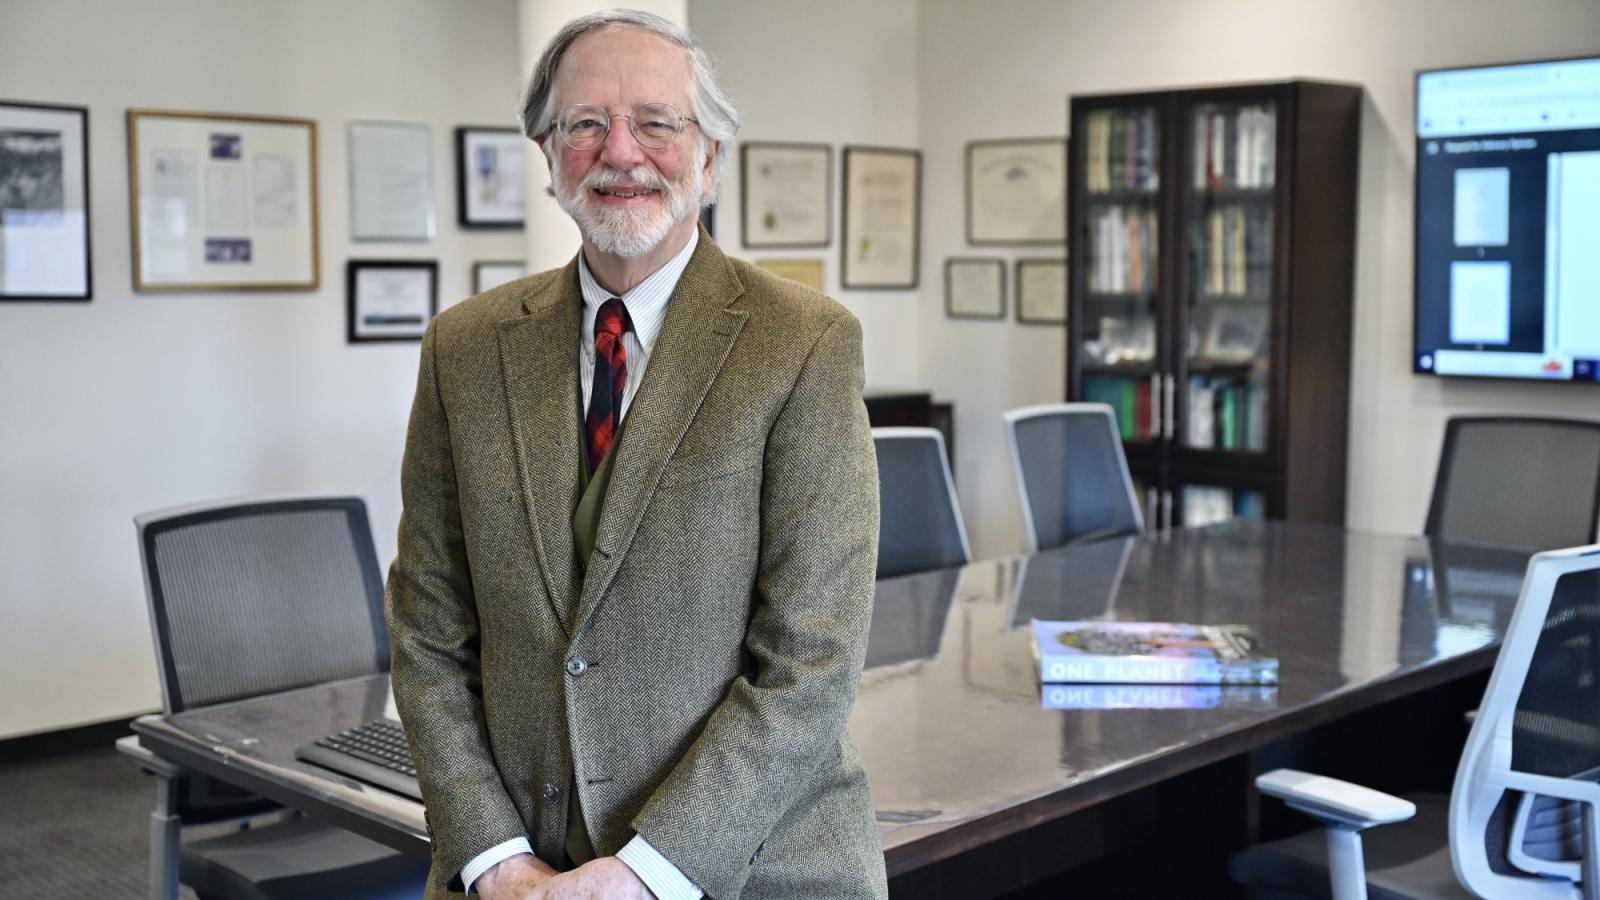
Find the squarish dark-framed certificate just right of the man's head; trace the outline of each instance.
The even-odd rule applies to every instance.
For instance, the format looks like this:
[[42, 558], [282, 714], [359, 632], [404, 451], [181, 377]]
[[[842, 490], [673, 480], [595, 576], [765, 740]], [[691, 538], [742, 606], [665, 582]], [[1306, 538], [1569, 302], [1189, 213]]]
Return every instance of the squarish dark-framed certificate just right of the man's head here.
[[749, 143], [739, 147], [739, 221], [746, 247], [827, 247], [834, 147]]

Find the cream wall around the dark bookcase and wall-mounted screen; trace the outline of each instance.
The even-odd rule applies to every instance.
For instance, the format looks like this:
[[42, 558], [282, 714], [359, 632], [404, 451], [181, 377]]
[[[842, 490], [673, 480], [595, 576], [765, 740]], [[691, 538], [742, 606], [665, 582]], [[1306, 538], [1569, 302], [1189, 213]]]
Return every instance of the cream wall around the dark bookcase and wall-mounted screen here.
[[[920, 109], [926, 160], [922, 373], [952, 397], [957, 479], [974, 552], [1014, 552], [1002, 410], [1059, 400], [1064, 340], [1016, 323], [944, 319], [942, 259], [970, 248], [962, 154], [970, 139], [1061, 135], [1066, 98], [1248, 80], [1360, 82], [1360, 224], [1347, 520], [1421, 528], [1443, 420], [1464, 412], [1600, 415], [1579, 384], [1413, 376], [1411, 163], [1416, 69], [1600, 50], [1594, 0], [923, 0]], [[1018, 255], [1034, 255], [1019, 248]]]

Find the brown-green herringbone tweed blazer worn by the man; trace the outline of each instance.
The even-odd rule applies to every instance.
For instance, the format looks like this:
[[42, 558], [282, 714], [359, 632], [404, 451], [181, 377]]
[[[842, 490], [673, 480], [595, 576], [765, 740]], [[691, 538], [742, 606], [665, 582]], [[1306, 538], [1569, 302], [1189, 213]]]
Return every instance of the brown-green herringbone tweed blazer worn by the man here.
[[845, 721], [878, 488], [861, 327], [701, 234], [579, 565], [578, 261], [440, 314], [402, 466], [394, 693], [427, 897], [528, 836], [635, 833], [715, 900], [882, 898]]

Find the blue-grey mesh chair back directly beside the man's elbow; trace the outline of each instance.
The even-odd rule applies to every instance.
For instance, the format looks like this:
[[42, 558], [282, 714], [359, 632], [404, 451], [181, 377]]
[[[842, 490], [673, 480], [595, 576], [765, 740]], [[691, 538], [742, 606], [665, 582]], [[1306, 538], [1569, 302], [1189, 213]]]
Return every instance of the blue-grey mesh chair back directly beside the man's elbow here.
[[965, 565], [971, 557], [944, 436], [874, 428], [878, 453], [878, 578]]

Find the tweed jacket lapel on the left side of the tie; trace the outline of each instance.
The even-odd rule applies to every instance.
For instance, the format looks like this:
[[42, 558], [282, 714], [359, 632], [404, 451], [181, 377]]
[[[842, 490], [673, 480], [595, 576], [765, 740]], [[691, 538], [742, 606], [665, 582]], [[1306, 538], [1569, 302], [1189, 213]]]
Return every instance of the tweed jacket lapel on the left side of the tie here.
[[573, 511], [578, 508], [578, 466], [582, 464], [578, 259], [562, 272], [555, 290], [528, 296], [523, 306], [526, 315], [499, 323], [501, 372], [534, 554], [555, 618], [566, 631], [578, 580]]

